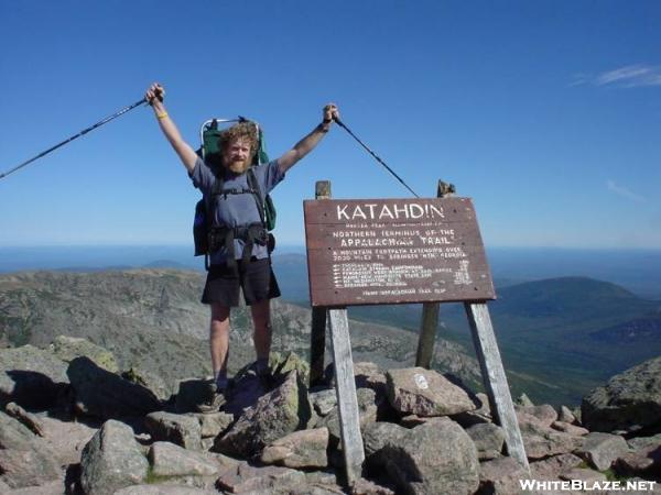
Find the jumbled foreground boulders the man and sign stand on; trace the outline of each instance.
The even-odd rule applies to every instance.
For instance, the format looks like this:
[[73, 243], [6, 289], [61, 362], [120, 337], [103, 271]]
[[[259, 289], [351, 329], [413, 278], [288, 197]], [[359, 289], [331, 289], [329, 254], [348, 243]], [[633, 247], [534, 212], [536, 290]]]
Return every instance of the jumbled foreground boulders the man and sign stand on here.
[[[148, 385], [102, 369], [113, 362], [102, 351], [97, 364], [94, 355], [64, 361], [48, 346], [39, 351], [45, 366], [31, 345], [0, 350], [1, 374], [13, 383], [0, 411], [1, 493], [468, 495], [549, 493], [525, 492], [521, 480], [661, 481], [658, 424], [644, 435], [622, 430], [621, 421], [590, 431], [577, 410], [528, 400], [516, 406], [527, 471], [507, 455], [484, 394], [431, 370], [356, 363], [366, 460], [362, 477], [348, 484], [335, 391], [308, 389], [307, 364], [295, 354], [273, 353], [268, 384], [237, 373], [223, 410], [199, 414], [204, 387], [192, 384], [202, 378], [182, 380], [160, 400]], [[30, 374], [40, 380], [17, 384]], [[89, 386], [94, 381], [102, 386]], [[646, 386], [642, 404], [655, 397], [661, 375]]]

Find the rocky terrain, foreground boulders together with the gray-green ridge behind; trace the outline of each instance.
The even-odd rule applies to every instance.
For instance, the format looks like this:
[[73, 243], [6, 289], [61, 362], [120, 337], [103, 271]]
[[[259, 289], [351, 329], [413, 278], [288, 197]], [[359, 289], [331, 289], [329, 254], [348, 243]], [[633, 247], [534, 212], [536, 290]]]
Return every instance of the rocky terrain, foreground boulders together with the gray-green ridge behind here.
[[[98, 300], [95, 275], [96, 285], [116, 292], [86, 307], [84, 294]], [[410, 333], [362, 327], [354, 372], [365, 462], [361, 477], [348, 483], [332, 367], [325, 384], [310, 388], [302, 308], [274, 306], [279, 352], [269, 380], [252, 373], [249, 353], [239, 350], [243, 361], [234, 363], [226, 403], [201, 414], [206, 342], [187, 329], [206, 324], [188, 300], [197, 297], [197, 275], [124, 275], [128, 282], [117, 273], [0, 277], [0, 330], [11, 344], [0, 349], [0, 493], [578, 493], [543, 484], [567, 481], [635, 482], [640, 490], [631, 493], [661, 493], [659, 359], [614, 376], [582, 409], [522, 397], [516, 413], [527, 469], [507, 454], [488, 398], [467, 385], [469, 365], [447, 370], [453, 374], [413, 367], [402, 358], [415, 345]], [[52, 293], [35, 288], [44, 278]], [[62, 278], [71, 295], [55, 290]], [[170, 321], [177, 312], [187, 323]], [[246, 312], [235, 318], [234, 332], [248, 339]], [[64, 321], [71, 332], [54, 334]], [[167, 343], [152, 349], [160, 340]], [[140, 359], [150, 352], [155, 356]], [[377, 352], [384, 356], [364, 361]], [[538, 484], [528, 490], [522, 481]]]

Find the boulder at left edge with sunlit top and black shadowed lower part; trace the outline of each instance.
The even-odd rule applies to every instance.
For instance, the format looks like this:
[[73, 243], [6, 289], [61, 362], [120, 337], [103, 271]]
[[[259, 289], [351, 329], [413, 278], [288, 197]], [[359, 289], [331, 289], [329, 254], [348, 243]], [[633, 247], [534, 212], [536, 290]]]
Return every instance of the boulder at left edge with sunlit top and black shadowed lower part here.
[[0, 407], [47, 409], [66, 388], [66, 363], [33, 345], [0, 349]]

